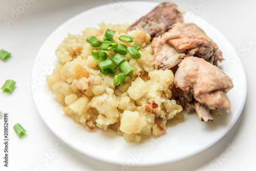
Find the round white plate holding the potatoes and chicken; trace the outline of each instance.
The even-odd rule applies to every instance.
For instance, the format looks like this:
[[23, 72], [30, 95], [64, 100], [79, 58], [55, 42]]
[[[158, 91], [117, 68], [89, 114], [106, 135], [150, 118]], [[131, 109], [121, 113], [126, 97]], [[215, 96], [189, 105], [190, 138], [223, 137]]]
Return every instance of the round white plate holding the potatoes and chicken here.
[[[56, 62], [55, 49], [68, 32], [79, 34], [84, 28], [97, 27], [98, 23], [133, 23], [157, 4], [124, 2], [99, 6], [82, 12], [58, 27], [41, 46], [32, 71], [32, 94], [36, 108], [49, 129], [77, 151], [98, 160], [122, 165], [155, 165], [173, 162], [202, 152], [220, 140], [236, 123], [246, 99], [246, 75], [243, 64], [230, 42], [213, 26], [198, 16], [187, 19], [199, 25], [223, 51], [226, 59], [220, 67], [233, 78], [234, 88], [228, 93], [231, 111], [214, 122], [200, 123], [196, 114], [185, 114], [185, 121], [170, 124], [166, 135], [144, 143], [126, 143], [114, 131], [95, 129], [89, 132], [61, 111], [45, 82]], [[132, 8], [131, 8], [132, 7]], [[192, 17], [191, 17], [192, 16]]]

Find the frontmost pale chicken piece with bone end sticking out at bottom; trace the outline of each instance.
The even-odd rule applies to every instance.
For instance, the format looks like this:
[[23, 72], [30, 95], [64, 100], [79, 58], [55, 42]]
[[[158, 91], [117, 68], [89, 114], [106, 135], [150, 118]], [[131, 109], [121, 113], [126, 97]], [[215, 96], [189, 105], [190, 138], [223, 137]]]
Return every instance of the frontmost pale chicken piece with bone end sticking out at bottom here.
[[201, 121], [213, 119], [212, 109], [230, 110], [226, 93], [233, 88], [232, 79], [202, 58], [189, 56], [183, 59], [175, 73], [174, 84], [183, 93], [181, 104], [188, 112], [194, 108]]

